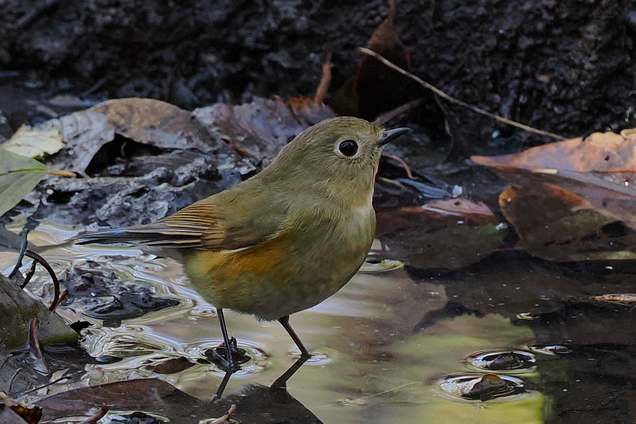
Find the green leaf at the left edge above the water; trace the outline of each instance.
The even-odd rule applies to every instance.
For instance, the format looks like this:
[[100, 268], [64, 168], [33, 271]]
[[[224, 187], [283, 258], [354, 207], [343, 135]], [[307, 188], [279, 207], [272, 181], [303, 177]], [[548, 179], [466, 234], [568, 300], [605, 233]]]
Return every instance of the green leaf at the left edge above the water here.
[[45, 175], [45, 165], [0, 147], [0, 216], [28, 195]]

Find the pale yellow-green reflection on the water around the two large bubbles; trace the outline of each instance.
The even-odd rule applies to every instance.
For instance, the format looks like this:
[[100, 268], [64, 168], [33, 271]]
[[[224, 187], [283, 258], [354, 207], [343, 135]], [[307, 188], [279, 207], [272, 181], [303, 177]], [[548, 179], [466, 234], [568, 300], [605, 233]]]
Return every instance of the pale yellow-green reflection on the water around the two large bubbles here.
[[[531, 393], [518, 402], [494, 403], [486, 409], [476, 409], [471, 404], [445, 399], [439, 395], [437, 386], [438, 379], [446, 374], [465, 373], [462, 359], [476, 350], [514, 348], [533, 339], [532, 330], [513, 325], [501, 315], [483, 318], [465, 315], [396, 339], [393, 345], [380, 346], [390, 355], [382, 362], [382, 371], [375, 362], [356, 362], [351, 373], [338, 375], [352, 393], [360, 393], [359, 397], [349, 396], [347, 400], [363, 398], [368, 405], [350, 407], [364, 407], [356, 411], [365, 416], [373, 411], [374, 422], [391, 422], [391, 417], [399, 416], [404, 423], [509, 423], [511, 417], [515, 422], [539, 423], [543, 422], [540, 418], [544, 404], [540, 393]], [[319, 380], [317, 384], [323, 383]], [[384, 395], [374, 396], [373, 401], [364, 398], [366, 393], [385, 391]]]

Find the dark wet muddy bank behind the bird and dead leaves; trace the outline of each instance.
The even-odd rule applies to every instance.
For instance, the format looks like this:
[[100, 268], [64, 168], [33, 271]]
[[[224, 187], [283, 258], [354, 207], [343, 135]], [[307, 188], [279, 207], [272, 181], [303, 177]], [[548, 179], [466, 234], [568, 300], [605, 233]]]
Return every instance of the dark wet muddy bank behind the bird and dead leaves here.
[[[326, 54], [331, 90], [357, 69], [387, 1], [6, 0], [0, 109], [22, 99], [153, 97], [186, 109], [252, 95], [312, 95]], [[413, 71], [451, 95], [566, 137], [633, 127], [634, 1], [397, 4]], [[42, 94], [42, 93], [45, 94]], [[19, 95], [16, 95], [19, 93]], [[460, 156], [545, 142], [447, 106]]]

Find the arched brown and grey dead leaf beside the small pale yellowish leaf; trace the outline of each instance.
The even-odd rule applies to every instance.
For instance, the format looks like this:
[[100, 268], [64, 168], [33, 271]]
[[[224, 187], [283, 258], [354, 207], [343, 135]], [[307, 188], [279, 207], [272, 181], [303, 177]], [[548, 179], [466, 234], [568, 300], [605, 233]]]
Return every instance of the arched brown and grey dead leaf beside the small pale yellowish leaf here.
[[115, 99], [62, 118], [47, 121], [41, 130], [57, 128], [66, 146], [52, 160], [85, 171], [93, 156], [121, 135], [150, 146], [199, 149], [210, 152], [219, 140], [205, 130], [192, 113], [154, 99]]

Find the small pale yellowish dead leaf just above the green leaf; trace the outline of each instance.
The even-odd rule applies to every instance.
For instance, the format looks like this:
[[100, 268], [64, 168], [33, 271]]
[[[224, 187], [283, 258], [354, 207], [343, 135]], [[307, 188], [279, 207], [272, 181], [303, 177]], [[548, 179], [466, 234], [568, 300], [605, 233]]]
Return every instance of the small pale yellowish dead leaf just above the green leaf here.
[[10, 139], [2, 144], [2, 147], [22, 156], [39, 158], [59, 151], [64, 147], [64, 140], [55, 127], [43, 130], [22, 125]]

